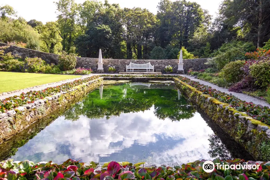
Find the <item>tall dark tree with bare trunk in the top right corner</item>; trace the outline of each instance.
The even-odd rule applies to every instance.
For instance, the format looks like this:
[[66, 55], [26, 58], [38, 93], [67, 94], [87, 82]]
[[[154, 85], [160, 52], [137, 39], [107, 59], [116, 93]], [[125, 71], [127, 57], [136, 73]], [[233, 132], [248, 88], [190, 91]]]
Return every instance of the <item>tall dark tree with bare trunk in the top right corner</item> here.
[[228, 26], [239, 26], [246, 41], [257, 47], [270, 37], [270, 0], [224, 0], [220, 14]]

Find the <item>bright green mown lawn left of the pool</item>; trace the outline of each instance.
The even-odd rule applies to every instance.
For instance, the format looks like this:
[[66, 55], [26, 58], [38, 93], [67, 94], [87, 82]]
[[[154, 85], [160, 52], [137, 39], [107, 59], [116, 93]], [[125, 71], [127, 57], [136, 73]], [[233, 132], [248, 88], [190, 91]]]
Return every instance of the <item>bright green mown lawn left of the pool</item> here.
[[0, 72], [0, 92], [14, 91], [50, 82], [73, 79], [80, 76], [59, 74], [36, 74]]

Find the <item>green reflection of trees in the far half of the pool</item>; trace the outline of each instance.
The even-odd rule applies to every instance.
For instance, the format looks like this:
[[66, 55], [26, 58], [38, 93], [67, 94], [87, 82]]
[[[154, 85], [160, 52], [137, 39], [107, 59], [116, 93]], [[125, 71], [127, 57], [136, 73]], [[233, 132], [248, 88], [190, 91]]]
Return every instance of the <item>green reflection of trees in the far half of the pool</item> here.
[[[159, 119], [169, 118], [172, 121], [190, 119], [195, 109], [187, 100], [180, 96], [174, 85], [164, 85], [164, 88], [149, 88], [148, 86], [131, 87], [129, 84], [110, 84], [97, 88], [86, 98], [70, 108], [64, 116], [65, 119], [76, 121], [84, 115], [91, 119], [106, 116], [119, 116], [121, 113], [139, 112], [155, 109], [155, 116]], [[102, 95], [102, 96], [101, 96]]]

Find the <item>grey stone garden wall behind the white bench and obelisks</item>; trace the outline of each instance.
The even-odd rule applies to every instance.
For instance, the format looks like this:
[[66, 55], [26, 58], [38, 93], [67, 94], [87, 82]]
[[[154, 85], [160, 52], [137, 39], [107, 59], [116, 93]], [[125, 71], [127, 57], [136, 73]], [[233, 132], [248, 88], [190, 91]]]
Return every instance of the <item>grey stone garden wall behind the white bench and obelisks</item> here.
[[[7, 44], [0, 43], [0, 46], [6, 46]], [[22, 58], [26, 57], [40, 57], [47, 63], [51, 64], [58, 64], [58, 55], [56, 54], [50, 54], [46, 52], [40, 52], [40, 51], [35, 51], [32, 49], [26, 49], [26, 48], [21, 48], [18, 46], [12, 46], [10, 45], [9, 48], [4, 49], [5, 53], [7, 52], [12, 52], [13, 54], [18, 54]], [[208, 58], [202, 58], [202, 59], [184, 59], [184, 71], [185, 73], [189, 69], [193, 70], [202, 70], [202, 69], [207, 69], [208, 67], [211, 67], [210, 65], [204, 64], [207, 62]], [[119, 72], [120, 70], [126, 71], [126, 65], [128, 65], [130, 62], [136, 63], [136, 64], [146, 64], [150, 62], [152, 65], [154, 65], [154, 70], [156, 71], [157, 69], [161, 69], [161, 72], [165, 72], [164, 68], [167, 65], [173, 66], [173, 73], [176, 73], [178, 69], [178, 62], [179, 60], [177, 59], [165, 59], [165, 60], [129, 60], [129, 59], [103, 59], [103, 67], [104, 71], [108, 72], [108, 68], [110, 66], [115, 66], [116, 67], [116, 72]], [[98, 69], [98, 58], [81, 58], [77, 57], [77, 66], [76, 67], [85, 67], [93, 70]]]

